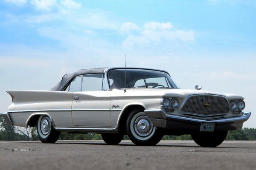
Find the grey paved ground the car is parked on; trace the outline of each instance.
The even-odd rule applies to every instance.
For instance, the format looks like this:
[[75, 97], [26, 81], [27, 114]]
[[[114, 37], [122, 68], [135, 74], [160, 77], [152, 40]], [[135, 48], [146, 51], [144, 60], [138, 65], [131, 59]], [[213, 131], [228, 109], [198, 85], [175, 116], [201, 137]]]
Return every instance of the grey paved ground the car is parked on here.
[[193, 141], [161, 141], [154, 147], [123, 141], [0, 141], [1, 170], [256, 170], [256, 141], [203, 148]]

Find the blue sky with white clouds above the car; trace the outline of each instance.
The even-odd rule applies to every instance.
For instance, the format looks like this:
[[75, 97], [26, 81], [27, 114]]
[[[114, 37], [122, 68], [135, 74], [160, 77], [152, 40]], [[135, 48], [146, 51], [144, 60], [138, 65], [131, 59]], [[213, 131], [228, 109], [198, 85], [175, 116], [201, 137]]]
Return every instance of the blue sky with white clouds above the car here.
[[49, 90], [125, 54], [180, 88], [243, 96], [256, 128], [256, 0], [1, 0], [0, 112], [6, 89]]

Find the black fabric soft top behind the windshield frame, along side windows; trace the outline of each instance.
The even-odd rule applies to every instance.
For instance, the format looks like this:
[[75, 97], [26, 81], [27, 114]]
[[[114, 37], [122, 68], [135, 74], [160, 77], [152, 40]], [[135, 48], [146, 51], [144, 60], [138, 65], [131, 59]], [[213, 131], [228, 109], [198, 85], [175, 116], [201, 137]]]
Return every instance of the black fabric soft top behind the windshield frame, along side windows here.
[[96, 73], [104, 73], [106, 70], [106, 68], [90, 68], [90, 69], [82, 69], [82, 70], [78, 70], [74, 73], [71, 74], [66, 74], [62, 77], [61, 81], [58, 82], [57, 85], [55, 85], [51, 91], [61, 91], [64, 86], [71, 81], [71, 79], [73, 77], [79, 76], [79, 75], [83, 75], [83, 74], [96, 74]]

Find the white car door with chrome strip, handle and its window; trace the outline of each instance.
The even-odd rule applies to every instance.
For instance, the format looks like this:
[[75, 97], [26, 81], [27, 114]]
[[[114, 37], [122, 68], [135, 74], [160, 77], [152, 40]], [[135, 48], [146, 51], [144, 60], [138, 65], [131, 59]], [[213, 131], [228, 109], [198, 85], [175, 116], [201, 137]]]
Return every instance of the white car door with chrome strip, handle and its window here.
[[104, 74], [87, 74], [78, 78], [81, 89], [72, 93], [75, 126], [111, 126], [111, 91], [106, 90], [103, 77]]

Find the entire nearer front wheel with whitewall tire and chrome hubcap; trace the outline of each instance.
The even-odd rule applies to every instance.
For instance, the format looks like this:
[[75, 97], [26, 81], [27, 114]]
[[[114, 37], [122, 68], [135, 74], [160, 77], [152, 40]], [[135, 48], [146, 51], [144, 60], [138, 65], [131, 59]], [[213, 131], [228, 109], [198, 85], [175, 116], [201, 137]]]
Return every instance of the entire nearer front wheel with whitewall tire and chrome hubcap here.
[[143, 109], [131, 111], [126, 122], [126, 130], [134, 144], [154, 146], [163, 138], [159, 129], [154, 127]]

